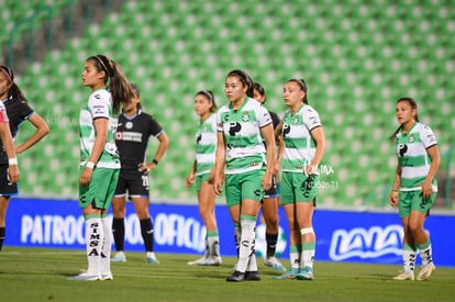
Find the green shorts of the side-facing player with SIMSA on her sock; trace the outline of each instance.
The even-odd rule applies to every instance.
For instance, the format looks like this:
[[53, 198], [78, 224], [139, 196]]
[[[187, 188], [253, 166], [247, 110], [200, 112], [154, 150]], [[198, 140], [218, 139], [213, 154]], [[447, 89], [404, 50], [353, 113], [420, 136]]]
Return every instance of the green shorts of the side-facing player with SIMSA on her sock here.
[[79, 206], [87, 208], [91, 204], [95, 209], [108, 210], [115, 192], [119, 174], [120, 169], [95, 168], [90, 183], [79, 186]]

